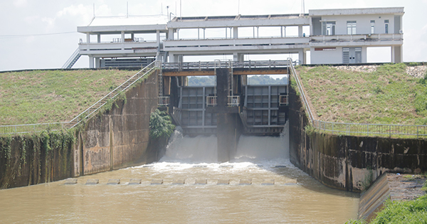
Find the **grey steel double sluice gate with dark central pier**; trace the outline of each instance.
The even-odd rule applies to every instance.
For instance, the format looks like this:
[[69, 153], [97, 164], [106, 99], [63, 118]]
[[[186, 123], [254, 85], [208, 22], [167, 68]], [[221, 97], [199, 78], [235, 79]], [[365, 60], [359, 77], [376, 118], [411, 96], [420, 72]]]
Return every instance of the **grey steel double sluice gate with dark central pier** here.
[[[247, 75], [287, 75], [290, 61], [164, 63], [159, 105], [169, 107], [185, 135], [218, 137], [228, 161], [241, 134], [279, 135], [288, 120], [288, 85], [249, 85]], [[216, 85], [189, 86], [186, 76], [215, 75]]]

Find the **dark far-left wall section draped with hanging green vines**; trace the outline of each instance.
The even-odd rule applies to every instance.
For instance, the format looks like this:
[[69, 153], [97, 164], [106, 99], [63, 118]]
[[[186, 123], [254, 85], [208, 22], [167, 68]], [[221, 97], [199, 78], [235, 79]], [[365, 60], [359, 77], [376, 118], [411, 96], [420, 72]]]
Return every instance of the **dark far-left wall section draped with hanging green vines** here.
[[[74, 143], [73, 130], [1, 136], [0, 189], [46, 183], [56, 176], [68, 177]], [[28, 172], [28, 183], [16, 183], [23, 181], [23, 169]]]

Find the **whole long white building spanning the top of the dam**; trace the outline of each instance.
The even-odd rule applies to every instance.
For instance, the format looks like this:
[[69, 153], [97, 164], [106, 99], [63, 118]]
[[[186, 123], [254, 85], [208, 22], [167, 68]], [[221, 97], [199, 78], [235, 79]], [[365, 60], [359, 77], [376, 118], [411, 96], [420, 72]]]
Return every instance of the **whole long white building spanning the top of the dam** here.
[[[297, 54], [301, 63], [366, 63], [367, 48], [390, 47], [402, 62], [404, 8], [322, 9], [309, 14], [258, 16], [95, 17], [78, 53], [90, 68], [149, 63], [160, 53], [169, 62], [189, 55]], [[291, 32], [292, 31], [292, 32]], [[307, 34], [306, 34], [307, 33]], [[72, 60], [70, 60], [72, 61]]]

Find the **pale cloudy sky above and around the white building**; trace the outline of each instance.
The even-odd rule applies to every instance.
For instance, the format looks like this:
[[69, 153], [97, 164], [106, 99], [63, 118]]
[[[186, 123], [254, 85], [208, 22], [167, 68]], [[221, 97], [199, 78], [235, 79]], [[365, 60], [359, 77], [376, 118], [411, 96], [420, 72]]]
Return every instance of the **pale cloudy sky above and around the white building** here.
[[[181, 5], [181, 7], [180, 7]], [[94, 7], [95, 6], [95, 7]], [[78, 48], [95, 16], [233, 16], [300, 14], [301, 0], [2, 0], [0, 1], [0, 71], [61, 68]], [[305, 0], [309, 9], [404, 7], [404, 61], [427, 61], [427, 0]], [[94, 10], [95, 8], [95, 10]], [[387, 55], [388, 54], [388, 55]], [[195, 58], [196, 59], [196, 58]], [[389, 50], [372, 49], [368, 62], [389, 60]], [[88, 68], [83, 56], [73, 68]]]

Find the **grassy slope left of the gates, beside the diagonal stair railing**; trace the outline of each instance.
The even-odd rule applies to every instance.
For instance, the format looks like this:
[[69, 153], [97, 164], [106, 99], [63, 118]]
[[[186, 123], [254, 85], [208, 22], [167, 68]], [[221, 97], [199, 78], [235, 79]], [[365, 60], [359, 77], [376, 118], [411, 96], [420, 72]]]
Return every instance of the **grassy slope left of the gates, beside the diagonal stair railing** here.
[[0, 125], [69, 121], [135, 70], [0, 73]]

